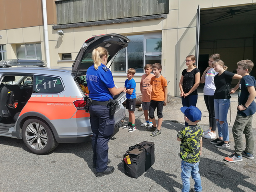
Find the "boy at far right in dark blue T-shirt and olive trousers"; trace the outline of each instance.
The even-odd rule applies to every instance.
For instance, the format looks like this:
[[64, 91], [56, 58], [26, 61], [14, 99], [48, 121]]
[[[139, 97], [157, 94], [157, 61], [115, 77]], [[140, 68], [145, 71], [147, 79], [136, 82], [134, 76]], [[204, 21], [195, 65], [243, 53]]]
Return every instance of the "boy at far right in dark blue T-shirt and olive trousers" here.
[[[237, 63], [237, 74], [242, 76], [239, 84], [237, 115], [233, 125], [234, 153], [226, 157], [228, 162], [242, 161], [242, 156], [248, 159], [254, 159], [254, 138], [252, 131], [252, 117], [256, 112], [256, 80], [250, 76], [254, 64], [250, 60], [241, 60]], [[237, 90], [238, 86], [232, 89]], [[243, 150], [243, 134], [246, 138], [246, 148]]]

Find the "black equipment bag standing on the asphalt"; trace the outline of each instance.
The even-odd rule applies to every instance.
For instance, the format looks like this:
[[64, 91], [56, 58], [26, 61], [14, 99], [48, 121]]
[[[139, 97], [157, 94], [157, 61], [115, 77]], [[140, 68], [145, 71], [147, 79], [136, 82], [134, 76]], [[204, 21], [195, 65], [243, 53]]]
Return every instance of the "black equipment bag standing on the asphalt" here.
[[[127, 156], [129, 156], [131, 164], [127, 161]], [[125, 174], [133, 178], [138, 178], [154, 164], [154, 161], [153, 142], [144, 141], [131, 146], [123, 155]]]

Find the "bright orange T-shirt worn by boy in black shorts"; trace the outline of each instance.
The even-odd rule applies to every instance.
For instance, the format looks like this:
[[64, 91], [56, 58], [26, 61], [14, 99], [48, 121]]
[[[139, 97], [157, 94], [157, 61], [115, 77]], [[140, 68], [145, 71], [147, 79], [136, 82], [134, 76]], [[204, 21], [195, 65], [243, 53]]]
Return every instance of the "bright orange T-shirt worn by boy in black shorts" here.
[[164, 87], [167, 86], [167, 80], [161, 75], [159, 78], [151, 78], [152, 94], [151, 100], [164, 101]]

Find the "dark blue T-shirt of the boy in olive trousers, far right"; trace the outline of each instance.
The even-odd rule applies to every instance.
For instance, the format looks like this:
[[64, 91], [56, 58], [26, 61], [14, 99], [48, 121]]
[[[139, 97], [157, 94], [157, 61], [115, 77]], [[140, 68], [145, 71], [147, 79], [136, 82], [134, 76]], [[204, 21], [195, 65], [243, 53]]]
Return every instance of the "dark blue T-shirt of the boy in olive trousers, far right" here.
[[[250, 93], [249, 93], [247, 87], [248, 86], [255, 87], [255, 85], [256, 85], [256, 80], [253, 76], [246, 75], [246, 76], [242, 77], [240, 85], [239, 85], [239, 92], [238, 92], [238, 104], [239, 105], [245, 104], [248, 100]], [[241, 116], [249, 116], [249, 115], [254, 114], [255, 112], [256, 112], [256, 103], [254, 102], [254, 100], [248, 106], [248, 108], [246, 110], [243, 110], [243, 111], [237, 110], [237, 114], [239, 114]]]

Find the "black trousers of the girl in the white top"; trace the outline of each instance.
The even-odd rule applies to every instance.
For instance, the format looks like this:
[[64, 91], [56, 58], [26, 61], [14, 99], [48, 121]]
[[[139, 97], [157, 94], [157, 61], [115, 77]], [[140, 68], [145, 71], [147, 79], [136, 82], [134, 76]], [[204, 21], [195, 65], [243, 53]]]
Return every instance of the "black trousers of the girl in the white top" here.
[[215, 110], [214, 110], [214, 96], [204, 95], [204, 101], [209, 112], [209, 122], [210, 122], [210, 127], [212, 128], [211, 130], [216, 131], [217, 124], [216, 124]]

